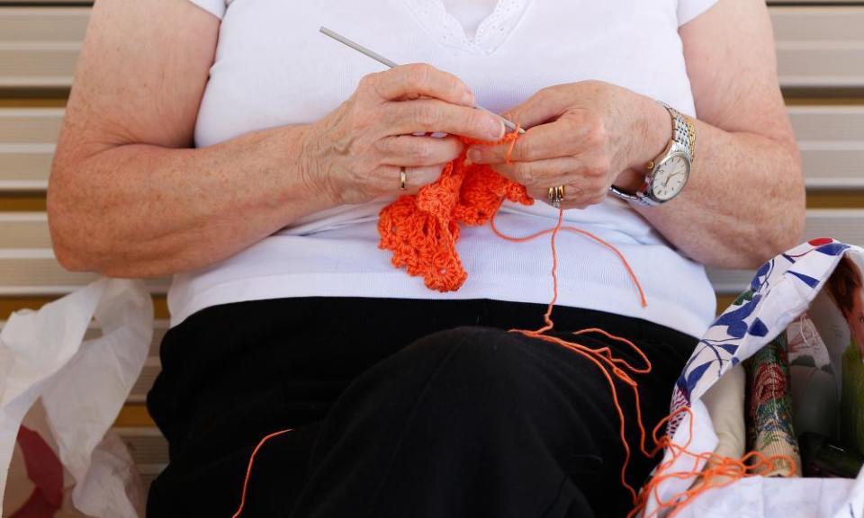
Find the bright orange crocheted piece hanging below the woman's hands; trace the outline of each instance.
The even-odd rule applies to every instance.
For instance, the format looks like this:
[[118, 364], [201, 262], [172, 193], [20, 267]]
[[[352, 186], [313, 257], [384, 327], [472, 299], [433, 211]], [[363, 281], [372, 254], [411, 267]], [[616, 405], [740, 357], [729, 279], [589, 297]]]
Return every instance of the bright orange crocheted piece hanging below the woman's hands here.
[[[500, 142], [515, 142], [516, 138], [514, 131]], [[462, 141], [465, 149], [478, 143], [500, 143]], [[445, 166], [437, 182], [420, 188], [417, 194], [400, 196], [381, 211], [378, 246], [393, 253], [393, 266], [422, 276], [430, 290], [458, 290], [468, 278], [456, 252], [460, 225], [485, 225], [505, 199], [534, 203], [524, 185], [501, 176], [489, 165], [466, 164], [463, 150]]]

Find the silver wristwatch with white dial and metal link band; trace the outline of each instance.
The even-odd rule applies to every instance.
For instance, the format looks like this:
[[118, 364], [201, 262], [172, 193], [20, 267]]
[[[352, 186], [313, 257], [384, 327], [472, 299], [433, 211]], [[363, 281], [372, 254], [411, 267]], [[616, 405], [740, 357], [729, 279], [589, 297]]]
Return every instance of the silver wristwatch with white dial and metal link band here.
[[670, 105], [661, 103], [672, 119], [672, 138], [657, 158], [645, 165], [645, 183], [637, 192], [626, 192], [615, 185], [609, 191], [619, 198], [656, 207], [670, 201], [684, 189], [690, 167], [696, 155], [696, 129], [686, 115]]

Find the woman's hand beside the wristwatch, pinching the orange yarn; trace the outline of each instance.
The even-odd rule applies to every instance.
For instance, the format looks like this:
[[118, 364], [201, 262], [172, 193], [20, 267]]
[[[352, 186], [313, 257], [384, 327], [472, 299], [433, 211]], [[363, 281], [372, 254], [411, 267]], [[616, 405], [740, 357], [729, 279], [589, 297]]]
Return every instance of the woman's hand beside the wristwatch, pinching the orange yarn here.
[[468, 159], [492, 165], [536, 200], [548, 203], [550, 188], [563, 185], [563, 209], [604, 201], [613, 183], [638, 189], [645, 164], [660, 155], [672, 131], [659, 103], [600, 81], [550, 86], [504, 116], [527, 129], [510, 163], [509, 143], [475, 145]]

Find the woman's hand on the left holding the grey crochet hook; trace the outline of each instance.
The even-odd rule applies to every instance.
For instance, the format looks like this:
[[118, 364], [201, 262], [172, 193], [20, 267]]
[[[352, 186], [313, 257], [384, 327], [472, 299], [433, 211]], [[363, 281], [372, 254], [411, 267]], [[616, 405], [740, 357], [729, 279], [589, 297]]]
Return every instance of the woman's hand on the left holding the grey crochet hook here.
[[345, 103], [305, 133], [307, 180], [326, 189], [335, 204], [356, 204], [400, 193], [405, 167], [407, 191], [416, 192], [437, 180], [462, 152], [462, 142], [453, 135], [504, 136], [501, 119], [473, 105], [467, 85], [429, 65], [365, 76]]

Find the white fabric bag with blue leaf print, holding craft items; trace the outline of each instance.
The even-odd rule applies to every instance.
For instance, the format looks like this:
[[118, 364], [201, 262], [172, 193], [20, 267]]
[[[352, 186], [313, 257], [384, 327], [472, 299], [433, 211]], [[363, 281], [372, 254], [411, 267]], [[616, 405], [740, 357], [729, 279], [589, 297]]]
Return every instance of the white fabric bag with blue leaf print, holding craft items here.
[[[728, 451], [721, 443], [725, 431], [712, 421], [713, 416], [725, 426], [728, 415], [709, 412], [706, 401], [716, 392], [706, 394], [744, 365], [748, 394], [739, 407], [742, 421], [746, 414], [749, 422], [747, 451], [787, 454], [797, 473], [782, 469], [743, 478], [689, 505], [668, 507], [662, 503], [699, 483], [686, 474], [704, 468], [705, 461], [681, 455], [672, 462], [667, 449], [662, 464], [671, 464], [653, 476], [681, 476], [658, 484], [644, 515], [674, 510], [694, 518], [864, 518], [862, 349], [864, 248], [820, 238], [763, 264], [750, 289], [716, 318], [681, 373], [668, 433], [675, 444], [689, 442], [690, 453]], [[685, 407], [689, 412], [680, 411]]]

